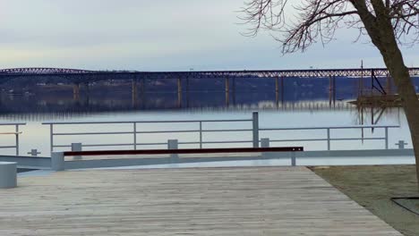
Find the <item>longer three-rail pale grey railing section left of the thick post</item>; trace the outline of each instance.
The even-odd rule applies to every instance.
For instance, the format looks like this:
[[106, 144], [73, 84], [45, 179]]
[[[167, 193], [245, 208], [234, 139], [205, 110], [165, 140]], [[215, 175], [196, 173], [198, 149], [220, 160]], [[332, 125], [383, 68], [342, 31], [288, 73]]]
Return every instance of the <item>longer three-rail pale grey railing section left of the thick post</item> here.
[[[205, 123], [220, 123], [220, 122], [249, 122], [251, 127], [245, 129], [203, 129]], [[138, 131], [138, 124], [153, 124], [153, 123], [190, 123], [198, 124], [196, 130], [170, 130], [170, 131]], [[183, 145], [199, 145], [200, 148], [204, 144], [218, 144], [218, 143], [252, 143], [252, 147], [259, 147], [259, 114], [253, 113], [252, 119], [235, 119], [235, 120], [184, 120], [184, 121], [133, 121], [133, 122], [43, 122], [44, 125], [49, 125], [50, 150], [54, 151], [55, 147], [72, 147], [70, 144], [57, 145], [55, 142], [56, 136], [90, 136], [90, 135], [129, 135], [132, 136], [132, 143], [111, 143], [111, 144], [83, 144], [83, 147], [133, 147], [137, 150], [139, 146], [157, 146], [167, 145], [167, 142], [146, 142], [141, 143], [137, 140], [138, 134], [158, 134], [158, 133], [197, 133], [199, 140], [189, 142], [179, 142]], [[56, 132], [55, 127], [58, 125], [90, 125], [90, 124], [132, 124], [132, 131], [98, 131], [98, 132]], [[215, 132], [251, 132], [252, 140], [223, 140], [223, 141], [207, 141], [204, 140], [205, 133]]]

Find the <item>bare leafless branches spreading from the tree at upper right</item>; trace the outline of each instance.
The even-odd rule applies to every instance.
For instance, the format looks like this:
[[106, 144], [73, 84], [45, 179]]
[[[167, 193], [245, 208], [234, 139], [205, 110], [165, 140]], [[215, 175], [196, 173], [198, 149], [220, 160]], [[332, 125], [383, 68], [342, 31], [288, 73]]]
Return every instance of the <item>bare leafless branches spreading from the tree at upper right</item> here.
[[374, 1], [381, 3], [399, 44], [413, 46], [419, 41], [419, 0], [302, 0], [300, 5], [287, 0], [250, 0], [239, 18], [251, 26], [244, 35], [272, 31], [283, 53], [293, 53], [318, 41], [329, 43], [339, 28], [356, 28], [363, 35], [363, 21], [376, 21]]

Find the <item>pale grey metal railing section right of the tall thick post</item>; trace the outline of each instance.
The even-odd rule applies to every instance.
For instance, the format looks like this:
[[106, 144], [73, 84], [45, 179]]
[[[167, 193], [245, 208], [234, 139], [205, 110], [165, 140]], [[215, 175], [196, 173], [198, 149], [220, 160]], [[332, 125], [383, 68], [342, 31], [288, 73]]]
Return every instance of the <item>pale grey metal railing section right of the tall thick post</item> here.
[[[295, 141], [326, 141], [328, 150], [330, 150], [331, 141], [347, 141], [347, 140], [384, 140], [384, 147], [389, 149], [389, 129], [400, 128], [398, 125], [351, 125], [351, 126], [322, 126], [322, 127], [287, 127], [287, 128], [261, 128], [259, 131], [325, 131], [325, 138], [320, 139], [268, 139], [268, 142], [295, 142]], [[384, 129], [384, 137], [356, 137], [356, 138], [332, 138], [330, 131], [347, 130], [347, 129]]]

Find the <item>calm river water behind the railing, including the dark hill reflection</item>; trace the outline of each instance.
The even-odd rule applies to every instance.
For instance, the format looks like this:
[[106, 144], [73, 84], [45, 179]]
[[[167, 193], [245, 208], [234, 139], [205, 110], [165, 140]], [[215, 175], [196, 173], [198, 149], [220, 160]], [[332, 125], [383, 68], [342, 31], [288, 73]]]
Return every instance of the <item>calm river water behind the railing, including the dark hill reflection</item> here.
[[[405, 140], [411, 147], [409, 131], [403, 109], [400, 108], [360, 108], [347, 103], [350, 98], [329, 103], [327, 94], [323, 97], [299, 91], [283, 101], [277, 101], [275, 94], [239, 93], [226, 104], [224, 93], [191, 93], [182, 98], [182, 104], [175, 93], [149, 94], [146, 101], [133, 102], [130, 94], [120, 97], [89, 97], [74, 100], [71, 95], [56, 97], [21, 96], [3, 97], [0, 122], [26, 122], [21, 127], [20, 155], [28, 155], [30, 149], [38, 149], [41, 156], [50, 154], [49, 126], [42, 122], [124, 122], [124, 121], [179, 121], [179, 120], [219, 120], [251, 119], [252, 112], [259, 112], [261, 128], [351, 126], [360, 124], [398, 125], [389, 129], [389, 148], [397, 148], [398, 140]], [[302, 95], [304, 93], [304, 95]], [[294, 97], [294, 98], [293, 98]], [[297, 97], [297, 98], [295, 98]], [[304, 99], [300, 98], [303, 97]], [[350, 96], [349, 96], [350, 97]], [[84, 100], [83, 100], [84, 99]], [[185, 101], [185, 99], [188, 99]], [[86, 101], [87, 100], [87, 101]], [[157, 123], [138, 124], [137, 131], [196, 130], [198, 124]], [[204, 130], [249, 129], [249, 122], [208, 123]], [[1, 128], [1, 132], [13, 131], [13, 127]], [[132, 131], [132, 124], [100, 124], [56, 127], [55, 132], [83, 131]], [[261, 138], [269, 139], [325, 139], [326, 131], [261, 131]], [[331, 131], [331, 138], [378, 138], [384, 137], [382, 129], [356, 129]], [[180, 142], [199, 141], [199, 133], [139, 134], [138, 143], [167, 143], [167, 139]], [[252, 132], [206, 133], [204, 141], [252, 140]], [[2, 145], [13, 145], [13, 136], [0, 136]], [[55, 145], [69, 145], [81, 142], [83, 145], [133, 143], [133, 135], [88, 135], [56, 137]], [[203, 147], [251, 147], [252, 143], [205, 144]], [[305, 150], [325, 150], [326, 141], [276, 142], [272, 147], [303, 146]], [[180, 147], [199, 147], [198, 144]], [[384, 148], [384, 140], [342, 140], [332, 141], [331, 149], [371, 149]], [[133, 149], [126, 147], [83, 147], [83, 149]], [[138, 148], [167, 148], [167, 145], [141, 145]], [[56, 147], [55, 150], [68, 150]], [[1, 149], [3, 155], [13, 155], [13, 149]]]

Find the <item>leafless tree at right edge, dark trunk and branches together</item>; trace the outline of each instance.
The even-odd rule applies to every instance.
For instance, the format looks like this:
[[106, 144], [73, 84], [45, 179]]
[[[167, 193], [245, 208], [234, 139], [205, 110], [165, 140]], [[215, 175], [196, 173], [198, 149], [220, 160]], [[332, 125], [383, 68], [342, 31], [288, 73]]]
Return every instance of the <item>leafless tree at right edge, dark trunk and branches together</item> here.
[[247, 34], [273, 31], [283, 53], [304, 51], [319, 40], [324, 45], [342, 27], [358, 29], [358, 38], [363, 34], [371, 38], [403, 101], [419, 182], [419, 100], [399, 49], [401, 44], [419, 42], [419, 0], [300, 0], [301, 5], [286, 0], [247, 1], [242, 17], [252, 26]]

